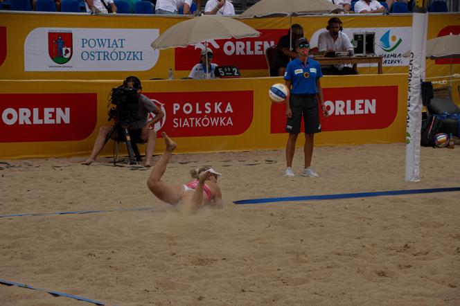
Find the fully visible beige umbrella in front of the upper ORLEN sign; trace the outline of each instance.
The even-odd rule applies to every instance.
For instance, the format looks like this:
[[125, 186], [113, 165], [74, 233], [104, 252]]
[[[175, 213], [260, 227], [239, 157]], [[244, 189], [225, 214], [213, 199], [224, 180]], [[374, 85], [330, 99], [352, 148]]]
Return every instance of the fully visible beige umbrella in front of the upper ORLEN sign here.
[[[209, 39], [229, 39], [259, 37], [260, 32], [243, 24], [241, 21], [222, 15], [202, 15], [179, 22], [168, 28], [155, 39], [150, 46], [154, 49], [186, 47], [204, 42], [206, 50]], [[206, 56], [206, 69], [208, 57]], [[209, 69], [206, 78], [209, 78]]]

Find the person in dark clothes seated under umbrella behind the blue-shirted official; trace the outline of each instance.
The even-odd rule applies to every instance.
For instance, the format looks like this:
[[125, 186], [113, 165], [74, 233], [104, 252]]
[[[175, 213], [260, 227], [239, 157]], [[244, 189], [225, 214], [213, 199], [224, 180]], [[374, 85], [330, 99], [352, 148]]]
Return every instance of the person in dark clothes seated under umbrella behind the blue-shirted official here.
[[[289, 41], [292, 31], [292, 39]], [[282, 36], [276, 44], [276, 54], [274, 60], [274, 70], [278, 71], [279, 76], [283, 76], [286, 71], [286, 66], [290, 60], [297, 58], [295, 51], [295, 43], [297, 39], [303, 37], [303, 28], [300, 24], [293, 24], [288, 31], [288, 35]]]

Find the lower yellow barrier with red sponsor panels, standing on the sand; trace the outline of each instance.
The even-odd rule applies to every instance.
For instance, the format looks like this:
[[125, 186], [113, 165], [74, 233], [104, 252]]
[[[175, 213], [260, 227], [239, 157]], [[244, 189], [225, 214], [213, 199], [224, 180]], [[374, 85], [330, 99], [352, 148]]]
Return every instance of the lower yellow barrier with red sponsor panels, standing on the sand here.
[[[268, 98], [281, 78], [143, 80], [143, 94], [166, 114], [157, 127], [178, 152], [269, 150], [285, 146], [285, 105]], [[330, 112], [316, 145], [405, 141], [407, 75], [321, 79]], [[107, 94], [118, 80], [0, 80], [0, 158], [89, 155], [110, 125]], [[103, 155], [113, 152], [112, 141]], [[299, 142], [302, 145], [302, 142]], [[155, 152], [163, 150], [157, 140]], [[143, 147], [141, 147], [143, 151]]]

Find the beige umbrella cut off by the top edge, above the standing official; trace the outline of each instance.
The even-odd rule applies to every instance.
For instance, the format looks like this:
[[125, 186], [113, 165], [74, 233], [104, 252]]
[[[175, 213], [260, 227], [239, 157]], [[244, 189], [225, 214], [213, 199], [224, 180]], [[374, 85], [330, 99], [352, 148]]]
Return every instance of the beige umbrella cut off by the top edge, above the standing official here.
[[[329, 14], [337, 9], [338, 7], [328, 0], [260, 0], [242, 12], [239, 18], [289, 16], [289, 28], [291, 28], [292, 16]], [[290, 44], [291, 41], [292, 37], [290, 37]]]

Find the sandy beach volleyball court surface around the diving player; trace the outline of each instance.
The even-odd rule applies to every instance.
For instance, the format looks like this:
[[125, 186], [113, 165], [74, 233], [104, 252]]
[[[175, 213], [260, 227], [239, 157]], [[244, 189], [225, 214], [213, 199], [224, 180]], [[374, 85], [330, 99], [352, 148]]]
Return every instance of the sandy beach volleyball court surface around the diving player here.
[[[319, 179], [300, 176], [301, 149], [293, 178], [284, 150], [177, 154], [166, 181], [222, 173], [224, 209], [194, 216], [148, 191], [148, 168], [2, 161], [0, 215], [112, 211], [1, 217], [0, 279], [108, 305], [458, 305], [460, 192], [233, 204], [459, 187], [457, 150], [422, 147], [418, 183], [404, 181], [403, 144], [317, 147]], [[3, 285], [0, 302], [90, 305]]]

